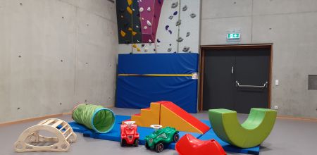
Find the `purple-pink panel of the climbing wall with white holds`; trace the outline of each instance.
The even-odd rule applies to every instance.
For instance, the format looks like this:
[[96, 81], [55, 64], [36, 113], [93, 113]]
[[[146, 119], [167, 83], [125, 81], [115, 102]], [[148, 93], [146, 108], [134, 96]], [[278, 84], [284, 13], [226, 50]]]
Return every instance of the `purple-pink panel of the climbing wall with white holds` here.
[[139, 0], [142, 43], [155, 42], [163, 0]]

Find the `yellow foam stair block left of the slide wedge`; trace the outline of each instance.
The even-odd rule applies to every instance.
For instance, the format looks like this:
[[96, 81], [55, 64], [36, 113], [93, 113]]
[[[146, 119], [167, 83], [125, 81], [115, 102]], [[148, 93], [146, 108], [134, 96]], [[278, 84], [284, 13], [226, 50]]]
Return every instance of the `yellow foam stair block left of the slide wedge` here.
[[151, 103], [149, 109], [141, 109], [139, 116], [131, 116], [131, 120], [135, 121], [141, 127], [149, 127], [153, 124], [160, 123], [161, 104]]

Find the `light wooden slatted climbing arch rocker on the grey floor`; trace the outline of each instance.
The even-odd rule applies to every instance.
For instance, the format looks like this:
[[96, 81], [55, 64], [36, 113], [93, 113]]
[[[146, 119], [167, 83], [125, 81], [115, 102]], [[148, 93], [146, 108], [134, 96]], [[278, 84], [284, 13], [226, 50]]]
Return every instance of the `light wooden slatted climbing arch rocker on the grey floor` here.
[[[50, 132], [55, 137], [39, 135], [43, 131]], [[70, 143], [76, 140], [77, 135], [68, 123], [57, 118], [49, 118], [24, 130], [15, 142], [14, 149], [16, 152], [68, 151]]]

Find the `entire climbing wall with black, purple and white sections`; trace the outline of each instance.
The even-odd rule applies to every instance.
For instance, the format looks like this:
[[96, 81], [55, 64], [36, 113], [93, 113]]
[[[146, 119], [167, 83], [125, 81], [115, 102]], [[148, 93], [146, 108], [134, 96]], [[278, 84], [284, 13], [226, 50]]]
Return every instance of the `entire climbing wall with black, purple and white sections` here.
[[119, 54], [198, 53], [200, 4], [200, 0], [118, 1]]

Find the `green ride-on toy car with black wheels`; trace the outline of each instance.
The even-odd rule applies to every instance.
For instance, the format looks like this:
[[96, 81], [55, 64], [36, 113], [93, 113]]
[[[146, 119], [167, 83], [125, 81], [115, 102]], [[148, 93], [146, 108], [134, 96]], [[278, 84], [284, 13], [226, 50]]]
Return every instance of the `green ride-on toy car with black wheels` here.
[[178, 142], [180, 135], [175, 128], [161, 128], [162, 125], [151, 125], [155, 131], [151, 135], [145, 137], [145, 147], [147, 149], [155, 149], [156, 152], [161, 152], [164, 149], [164, 144]]

